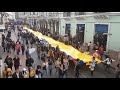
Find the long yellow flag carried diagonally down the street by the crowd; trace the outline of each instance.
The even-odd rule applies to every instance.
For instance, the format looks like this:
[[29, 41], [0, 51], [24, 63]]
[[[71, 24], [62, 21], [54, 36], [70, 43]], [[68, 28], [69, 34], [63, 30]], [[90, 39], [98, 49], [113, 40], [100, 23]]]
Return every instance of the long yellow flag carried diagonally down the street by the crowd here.
[[[23, 29], [27, 30], [28, 32], [31, 32], [32, 34], [37, 36], [39, 39], [45, 39], [49, 44], [51, 44], [52, 47], [59, 46], [60, 51], [66, 53], [67, 55], [73, 58], [72, 60], [74, 60], [74, 63], [76, 63], [75, 59], [79, 59], [79, 60], [82, 60], [84, 63], [86, 63], [86, 65], [89, 65], [90, 64], [89, 62], [93, 58], [93, 56], [91, 55], [82, 53], [70, 45], [65, 45], [64, 43], [56, 41], [50, 38], [49, 36], [45, 36], [40, 32], [33, 31], [32, 29], [29, 29], [26, 26], [23, 27]], [[101, 63], [100, 59], [96, 58], [96, 60], [97, 60], [97, 64]]]

